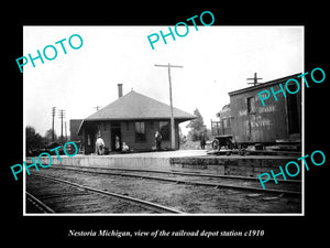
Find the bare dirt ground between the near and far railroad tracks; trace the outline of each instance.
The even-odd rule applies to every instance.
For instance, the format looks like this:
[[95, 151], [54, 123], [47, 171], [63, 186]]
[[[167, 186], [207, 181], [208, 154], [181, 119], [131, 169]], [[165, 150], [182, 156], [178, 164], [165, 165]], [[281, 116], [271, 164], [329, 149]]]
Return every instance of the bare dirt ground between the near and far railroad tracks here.
[[[266, 193], [255, 194], [246, 191], [175, 184], [136, 177], [77, 173], [63, 170], [42, 170], [35, 173], [138, 197], [189, 214], [301, 213], [301, 200], [296, 196], [278, 197], [278, 195]], [[33, 177], [26, 176], [26, 180], [33, 180]], [[113, 208], [113, 213], [128, 212], [132, 213], [127, 206], [121, 209], [120, 204], [118, 204], [116, 209]]]

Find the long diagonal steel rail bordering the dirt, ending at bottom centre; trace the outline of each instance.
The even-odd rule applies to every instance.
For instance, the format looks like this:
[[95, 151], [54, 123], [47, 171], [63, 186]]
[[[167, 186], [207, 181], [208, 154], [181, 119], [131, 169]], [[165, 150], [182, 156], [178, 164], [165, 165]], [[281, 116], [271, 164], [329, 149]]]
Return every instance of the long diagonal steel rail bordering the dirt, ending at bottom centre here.
[[127, 196], [127, 195], [122, 195], [122, 194], [118, 194], [118, 193], [112, 193], [112, 192], [108, 192], [108, 191], [103, 191], [103, 190], [98, 190], [98, 188], [95, 188], [95, 187], [85, 186], [85, 185], [73, 183], [73, 182], [69, 182], [69, 181], [66, 181], [66, 180], [55, 179], [55, 177], [48, 176], [48, 175], [33, 174], [33, 176], [42, 177], [42, 179], [53, 181], [53, 182], [64, 183], [64, 184], [67, 184], [67, 185], [74, 186], [74, 187], [78, 187], [78, 188], [90, 191], [90, 192], [96, 192], [96, 193], [99, 193], [99, 194], [117, 197], [117, 198], [120, 198], [120, 200], [125, 200], [128, 202], [138, 204], [142, 207], [146, 207], [148, 209], [161, 212], [161, 213], [167, 212], [167, 213], [172, 213], [172, 214], [186, 214], [186, 213], [177, 211], [175, 208], [166, 207], [166, 206], [163, 206], [163, 205], [160, 205], [160, 204], [156, 204], [156, 203], [152, 203], [152, 202], [147, 202], [147, 201], [144, 201], [144, 200], [139, 200], [139, 198], [135, 198], [135, 197], [131, 197], [131, 196]]

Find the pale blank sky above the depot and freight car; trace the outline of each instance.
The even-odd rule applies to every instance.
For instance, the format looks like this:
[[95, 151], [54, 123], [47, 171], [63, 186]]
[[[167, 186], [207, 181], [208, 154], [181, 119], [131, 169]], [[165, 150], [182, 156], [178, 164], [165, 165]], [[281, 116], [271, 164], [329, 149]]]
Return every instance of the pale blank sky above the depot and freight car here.
[[[198, 23], [197, 23], [198, 24]], [[172, 26], [174, 30], [174, 26]], [[183, 28], [185, 29], [185, 28]], [[52, 128], [52, 107], [66, 110], [69, 119], [84, 119], [131, 89], [169, 105], [168, 72], [155, 64], [180, 65], [170, 71], [173, 105], [193, 114], [196, 108], [210, 128], [210, 120], [230, 103], [229, 91], [245, 88], [257, 73], [261, 83], [304, 72], [302, 26], [204, 26], [189, 25], [186, 36], [160, 39], [152, 50], [147, 36], [168, 26], [24, 26], [23, 56], [37, 56], [47, 45], [57, 57], [31, 61], [23, 67], [24, 126], [44, 136]], [[185, 30], [178, 30], [185, 33]], [[82, 46], [68, 44], [79, 34]], [[55, 42], [66, 39], [63, 45]], [[72, 39], [78, 46], [79, 40]], [[47, 56], [54, 56], [52, 48]], [[43, 56], [43, 55], [42, 55]], [[19, 69], [19, 67], [18, 67]], [[180, 125], [184, 133], [188, 122]], [[61, 134], [58, 111], [55, 132]]]

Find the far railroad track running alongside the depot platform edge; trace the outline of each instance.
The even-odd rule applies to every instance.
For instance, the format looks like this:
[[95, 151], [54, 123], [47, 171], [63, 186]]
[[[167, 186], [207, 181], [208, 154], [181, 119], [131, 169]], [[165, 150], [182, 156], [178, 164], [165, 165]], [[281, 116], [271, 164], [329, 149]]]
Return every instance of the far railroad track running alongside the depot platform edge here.
[[[116, 176], [130, 176], [147, 180], [157, 180], [165, 182], [173, 182], [176, 184], [190, 184], [199, 186], [210, 186], [216, 188], [231, 188], [238, 191], [250, 191], [258, 193], [272, 193], [279, 195], [290, 195], [290, 196], [300, 196], [300, 186], [301, 181], [299, 180], [278, 180], [279, 186], [282, 185], [296, 185], [296, 191], [286, 190], [286, 188], [262, 188], [258, 179], [249, 177], [249, 176], [233, 176], [233, 175], [215, 175], [215, 174], [200, 174], [200, 173], [190, 173], [190, 172], [169, 172], [169, 171], [154, 171], [154, 170], [131, 170], [131, 169], [100, 169], [95, 166], [70, 166], [70, 165], [61, 165], [48, 168], [52, 170], [67, 170], [76, 171], [81, 173], [95, 173], [103, 175], [116, 175]], [[48, 170], [47, 169], [47, 170]], [[153, 175], [154, 174], [154, 175]], [[157, 176], [155, 174], [166, 175]], [[169, 176], [170, 175], [170, 176]], [[196, 179], [201, 179], [197, 181]], [[220, 181], [227, 181], [227, 183], [219, 183]], [[238, 183], [241, 181], [241, 183]], [[228, 183], [229, 182], [229, 183]], [[275, 185], [278, 187], [278, 184]]]

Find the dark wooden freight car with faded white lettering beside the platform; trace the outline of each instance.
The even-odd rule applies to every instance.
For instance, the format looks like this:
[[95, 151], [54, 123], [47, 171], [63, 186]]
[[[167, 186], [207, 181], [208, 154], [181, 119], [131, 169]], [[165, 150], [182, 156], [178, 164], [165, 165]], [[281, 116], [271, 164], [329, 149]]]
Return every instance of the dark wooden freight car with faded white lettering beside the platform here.
[[[287, 77], [258, 84], [229, 93], [230, 104], [223, 106], [217, 114], [220, 121], [211, 120], [213, 136], [212, 148], [229, 149], [255, 145], [262, 149], [273, 144], [295, 144], [299, 147], [301, 137], [301, 94], [284, 94], [278, 84], [285, 84], [289, 78], [296, 78], [301, 85], [301, 78], [295, 74]], [[268, 99], [264, 107], [257, 93], [273, 87], [277, 100]], [[290, 90], [297, 87], [288, 84]]]

